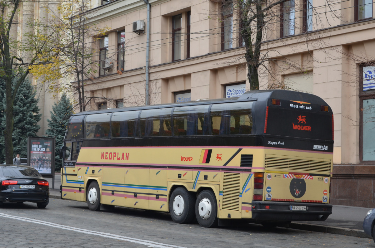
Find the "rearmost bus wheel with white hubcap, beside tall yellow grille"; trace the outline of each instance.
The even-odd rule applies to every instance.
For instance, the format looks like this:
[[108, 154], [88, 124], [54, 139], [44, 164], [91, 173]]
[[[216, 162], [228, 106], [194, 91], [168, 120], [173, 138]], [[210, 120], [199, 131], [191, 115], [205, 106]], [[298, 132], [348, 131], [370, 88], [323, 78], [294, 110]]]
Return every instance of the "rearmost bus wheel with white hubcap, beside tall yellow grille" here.
[[217, 226], [216, 197], [211, 190], [203, 190], [199, 193], [195, 202], [195, 216], [202, 227]]

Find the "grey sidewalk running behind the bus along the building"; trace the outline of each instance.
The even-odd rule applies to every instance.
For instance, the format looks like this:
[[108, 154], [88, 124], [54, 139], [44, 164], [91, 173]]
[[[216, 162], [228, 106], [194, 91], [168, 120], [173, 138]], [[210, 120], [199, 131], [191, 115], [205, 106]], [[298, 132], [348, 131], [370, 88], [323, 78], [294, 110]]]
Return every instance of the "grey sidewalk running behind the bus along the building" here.
[[[49, 197], [60, 199], [60, 173], [55, 173], [55, 185], [52, 189], [52, 178], [46, 178], [49, 182]], [[292, 221], [290, 228], [332, 233], [339, 235], [371, 238], [363, 232], [362, 224], [366, 213], [370, 208], [333, 205], [332, 214], [325, 221]]]

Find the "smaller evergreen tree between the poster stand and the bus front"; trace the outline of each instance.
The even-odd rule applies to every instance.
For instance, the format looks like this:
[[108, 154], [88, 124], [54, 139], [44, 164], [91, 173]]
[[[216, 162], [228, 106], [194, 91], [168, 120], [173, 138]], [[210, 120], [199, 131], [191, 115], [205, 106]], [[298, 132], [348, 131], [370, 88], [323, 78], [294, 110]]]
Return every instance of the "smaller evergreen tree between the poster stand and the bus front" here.
[[62, 166], [62, 159], [59, 156], [59, 149], [63, 145], [63, 139], [65, 136], [66, 128], [69, 124], [69, 118], [73, 114], [72, 103], [63, 93], [60, 101], [52, 106], [51, 120], [47, 119], [48, 129], [46, 130], [46, 136], [55, 137], [56, 149], [55, 149], [55, 171], [60, 171]]

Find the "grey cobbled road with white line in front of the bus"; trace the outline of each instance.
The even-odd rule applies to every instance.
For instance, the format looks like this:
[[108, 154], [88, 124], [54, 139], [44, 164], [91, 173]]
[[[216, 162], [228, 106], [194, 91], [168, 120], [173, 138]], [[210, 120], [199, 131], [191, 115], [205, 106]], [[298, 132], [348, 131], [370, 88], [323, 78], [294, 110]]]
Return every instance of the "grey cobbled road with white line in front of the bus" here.
[[372, 239], [256, 224], [203, 228], [169, 214], [128, 208], [93, 212], [84, 202], [4, 203], [0, 247], [375, 247]]

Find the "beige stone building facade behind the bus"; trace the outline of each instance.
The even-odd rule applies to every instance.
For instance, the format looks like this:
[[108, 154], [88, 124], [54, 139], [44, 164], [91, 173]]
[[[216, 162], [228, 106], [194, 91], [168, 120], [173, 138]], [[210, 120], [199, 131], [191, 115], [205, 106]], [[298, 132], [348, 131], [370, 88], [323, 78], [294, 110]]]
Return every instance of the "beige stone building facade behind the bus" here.
[[[93, 37], [99, 66], [85, 86], [86, 95], [96, 99], [88, 109], [146, 103], [145, 2], [92, 2], [90, 23], [110, 31]], [[148, 2], [150, 104], [233, 97], [249, 90], [239, 4]], [[260, 88], [312, 93], [331, 106], [331, 203], [375, 207], [375, 4], [290, 0], [273, 9], [263, 36]]]

